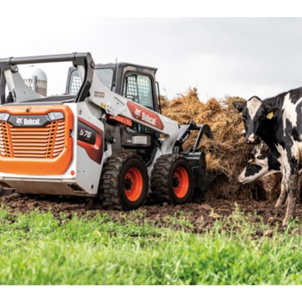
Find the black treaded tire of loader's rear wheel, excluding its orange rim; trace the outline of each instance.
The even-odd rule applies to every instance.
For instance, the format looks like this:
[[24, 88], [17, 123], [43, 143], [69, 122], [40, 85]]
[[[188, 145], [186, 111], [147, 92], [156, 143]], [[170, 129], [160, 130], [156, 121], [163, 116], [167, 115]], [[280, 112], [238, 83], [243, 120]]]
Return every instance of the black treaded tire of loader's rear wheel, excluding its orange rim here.
[[[130, 201], [124, 190], [124, 176], [131, 167], [140, 171], [143, 182], [141, 195], [136, 201]], [[144, 162], [134, 153], [116, 154], [108, 157], [103, 165], [100, 202], [107, 209], [134, 210], [146, 202], [148, 187], [149, 177]]]

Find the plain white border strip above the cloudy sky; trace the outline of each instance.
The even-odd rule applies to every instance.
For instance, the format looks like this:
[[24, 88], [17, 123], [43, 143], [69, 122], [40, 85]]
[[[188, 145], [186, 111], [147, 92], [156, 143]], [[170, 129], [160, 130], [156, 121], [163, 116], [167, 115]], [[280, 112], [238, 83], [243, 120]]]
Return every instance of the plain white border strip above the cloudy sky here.
[[[62, 16], [83, 21], [92, 17], [299, 17], [297, 0], [11, 0], [1, 3], [2, 20], [45, 19]], [[3, 23], [4, 24], [4, 23]], [[8, 24], [7, 24], [8, 26]]]

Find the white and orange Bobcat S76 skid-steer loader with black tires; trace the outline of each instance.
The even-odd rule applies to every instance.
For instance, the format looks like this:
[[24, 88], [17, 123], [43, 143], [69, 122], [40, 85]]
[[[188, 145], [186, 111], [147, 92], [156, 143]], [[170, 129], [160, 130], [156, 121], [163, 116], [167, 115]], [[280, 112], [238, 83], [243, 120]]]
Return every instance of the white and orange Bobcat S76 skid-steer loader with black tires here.
[[[71, 61], [65, 94], [26, 86], [18, 65]], [[209, 183], [198, 152], [206, 124], [178, 125], [158, 111], [156, 68], [95, 65], [90, 53], [0, 59], [0, 185], [20, 193], [99, 197], [131, 210], [182, 204]], [[192, 130], [195, 145], [183, 149]]]

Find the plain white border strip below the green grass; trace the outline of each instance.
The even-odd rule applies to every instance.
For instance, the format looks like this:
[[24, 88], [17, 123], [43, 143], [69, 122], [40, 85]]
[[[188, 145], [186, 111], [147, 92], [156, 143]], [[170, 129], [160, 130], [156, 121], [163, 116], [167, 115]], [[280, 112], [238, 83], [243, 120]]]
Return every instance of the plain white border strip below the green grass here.
[[3, 301], [286, 301], [301, 286], [2, 286]]

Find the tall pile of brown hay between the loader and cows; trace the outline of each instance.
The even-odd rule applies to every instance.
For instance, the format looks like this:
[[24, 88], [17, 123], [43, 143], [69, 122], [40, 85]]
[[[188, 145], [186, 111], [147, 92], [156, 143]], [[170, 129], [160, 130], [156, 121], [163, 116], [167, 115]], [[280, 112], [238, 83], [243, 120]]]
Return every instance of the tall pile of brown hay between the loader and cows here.
[[[265, 198], [265, 193], [260, 182], [245, 186], [238, 183], [238, 175], [251, 158], [252, 146], [243, 141], [244, 124], [241, 115], [232, 105], [234, 101], [244, 101], [244, 99], [212, 98], [202, 103], [198, 98], [197, 89], [193, 88], [171, 101], [163, 102], [162, 112], [179, 124], [194, 120], [197, 124], [208, 124], [211, 127], [214, 139], [204, 136], [199, 147], [206, 153], [207, 169], [222, 172], [226, 176], [212, 186], [213, 197], [262, 199]], [[185, 148], [193, 146], [197, 136], [197, 131], [194, 132], [196, 133], [192, 131], [185, 142]]]

